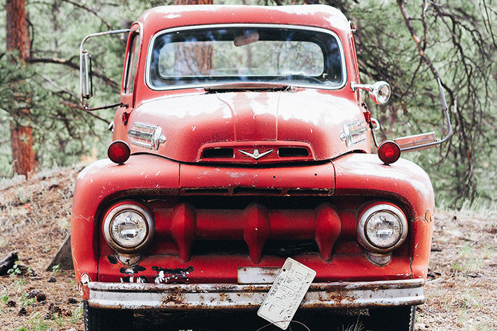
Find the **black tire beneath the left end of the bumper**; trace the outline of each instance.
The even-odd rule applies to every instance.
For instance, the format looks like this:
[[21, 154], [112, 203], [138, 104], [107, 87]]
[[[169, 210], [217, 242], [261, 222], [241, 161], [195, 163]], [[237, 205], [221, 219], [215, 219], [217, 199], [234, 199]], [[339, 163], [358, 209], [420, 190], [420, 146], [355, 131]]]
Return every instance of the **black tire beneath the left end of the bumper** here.
[[83, 302], [85, 331], [132, 331], [133, 311], [125, 309], [99, 309]]

